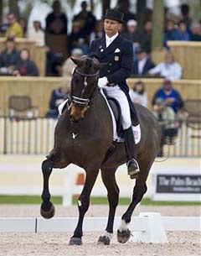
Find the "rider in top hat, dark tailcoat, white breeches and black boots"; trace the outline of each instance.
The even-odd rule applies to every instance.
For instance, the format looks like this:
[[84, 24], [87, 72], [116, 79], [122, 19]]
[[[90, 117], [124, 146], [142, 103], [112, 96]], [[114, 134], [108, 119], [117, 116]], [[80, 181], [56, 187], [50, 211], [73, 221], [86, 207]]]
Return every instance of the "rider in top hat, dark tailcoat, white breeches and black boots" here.
[[122, 114], [122, 128], [127, 155], [128, 175], [139, 173], [136, 160], [135, 140], [131, 128], [131, 115], [138, 124], [137, 112], [129, 97], [126, 78], [131, 75], [133, 60], [132, 44], [119, 35], [123, 21], [123, 13], [114, 9], [107, 9], [104, 18], [105, 35], [95, 39], [90, 45], [90, 53], [99, 56], [101, 63], [107, 63], [100, 71], [98, 86], [106, 89], [109, 97], [114, 97], [120, 103]]

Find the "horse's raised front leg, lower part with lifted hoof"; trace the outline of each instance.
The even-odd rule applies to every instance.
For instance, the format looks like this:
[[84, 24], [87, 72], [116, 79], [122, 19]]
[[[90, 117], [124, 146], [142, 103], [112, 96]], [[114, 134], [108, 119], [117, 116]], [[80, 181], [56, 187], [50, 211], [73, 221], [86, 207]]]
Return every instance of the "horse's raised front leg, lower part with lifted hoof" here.
[[50, 159], [44, 160], [42, 164], [42, 171], [44, 176], [44, 190], [41, 196], [43, 202], [40, 207], [40, 214], [46, 219], [54, 217], [55, 213], [54, 204], [50, 201], [51, 196], [49, 193], [49, 176], [52, 173], [53, 165], [54, 162]]

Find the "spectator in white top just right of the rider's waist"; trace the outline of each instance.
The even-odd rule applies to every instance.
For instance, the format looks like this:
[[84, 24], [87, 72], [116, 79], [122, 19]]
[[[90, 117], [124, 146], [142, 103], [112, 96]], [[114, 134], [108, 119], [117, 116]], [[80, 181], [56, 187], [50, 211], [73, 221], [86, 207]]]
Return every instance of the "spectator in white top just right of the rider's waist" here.
[[137, 81], [129, 91], [129, 94], [133, 103], [147, 107], [147, 92], [145, 91], [145, 84], [142, 81]]

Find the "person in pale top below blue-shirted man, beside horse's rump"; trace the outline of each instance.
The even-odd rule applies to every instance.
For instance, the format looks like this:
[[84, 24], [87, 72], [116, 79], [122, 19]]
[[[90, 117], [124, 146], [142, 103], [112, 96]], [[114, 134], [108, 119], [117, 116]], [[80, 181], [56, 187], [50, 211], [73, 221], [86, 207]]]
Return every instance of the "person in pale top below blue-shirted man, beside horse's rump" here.
[[160, 97], [156, 99], [152, 113], [157, 118], [162, 129], [161, 152], [158, 155], [162, 156], [165, 142], [173, 144], [174, 138], [178, 134], [178, 122], [175, 120], [176, 114], [173, 108], [165, 105], [163, 99]]

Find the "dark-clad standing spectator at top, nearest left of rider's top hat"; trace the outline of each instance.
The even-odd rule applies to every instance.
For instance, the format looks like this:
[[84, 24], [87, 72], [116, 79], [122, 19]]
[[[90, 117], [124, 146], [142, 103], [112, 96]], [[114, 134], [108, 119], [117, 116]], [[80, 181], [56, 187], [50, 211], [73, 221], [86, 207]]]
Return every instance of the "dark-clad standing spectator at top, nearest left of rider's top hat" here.
[[81, 12], [75, 15], [74, 21], [80, 22], [80, 33], [84, 39], [89, 43], [90, 34], [95, 30], [96, 19], [95, 16], [87, 11], [87, 3], [81, 3]]

